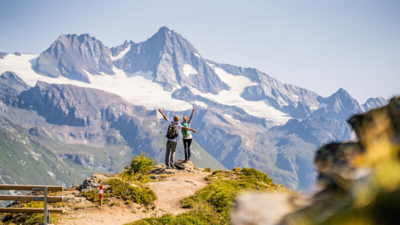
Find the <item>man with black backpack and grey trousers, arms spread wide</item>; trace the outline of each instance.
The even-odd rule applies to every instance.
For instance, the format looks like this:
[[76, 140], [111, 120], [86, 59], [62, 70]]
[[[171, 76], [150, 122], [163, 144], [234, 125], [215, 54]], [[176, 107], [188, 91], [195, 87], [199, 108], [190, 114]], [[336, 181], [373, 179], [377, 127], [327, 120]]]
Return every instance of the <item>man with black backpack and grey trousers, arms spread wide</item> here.
[[[174, 115], [173, 116], [173, 121], [169, 120], [165, 114], [162, 112], [162, 110], [159, 108], [158, 111], [161, 113], [162, 117], [164, 117], [165, 121], [169, 124], [168, 125], [168, 130], [166, 131], [166, 152], [165, 152], [165, 166], [166, 168], [174, 168], [175, 166], [173, 165], [174, 159], [175, 159], [175, 151], [176, 151], [176, 141], [178, 137], [178, 131], [179, 129], [184, 129], [188, 131], [193, 131], [194, 133], [196, 130], [184, 127], [181, 124], [178, 123], [179, 121], [179, 116]], [[170, 157], [169, 157], [170, 153]], [[169, 159], [169, 160], [168, 160]]]

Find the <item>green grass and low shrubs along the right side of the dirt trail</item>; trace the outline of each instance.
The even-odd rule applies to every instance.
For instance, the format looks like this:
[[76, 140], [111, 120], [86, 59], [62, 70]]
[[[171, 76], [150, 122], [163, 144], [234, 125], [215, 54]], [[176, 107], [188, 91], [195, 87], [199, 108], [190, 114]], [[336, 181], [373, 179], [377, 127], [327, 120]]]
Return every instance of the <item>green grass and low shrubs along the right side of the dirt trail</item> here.
[[191, 209], [188, 212], [144, 218], [127, 224], [229, 224], [230, 207], [238, 193], [246, 190], [288, 191], [272, 184], [265, 173], [255, 169], [215, 170], [206, 178], [209, 180], [206, 187], [181, 201], [183, 207]]

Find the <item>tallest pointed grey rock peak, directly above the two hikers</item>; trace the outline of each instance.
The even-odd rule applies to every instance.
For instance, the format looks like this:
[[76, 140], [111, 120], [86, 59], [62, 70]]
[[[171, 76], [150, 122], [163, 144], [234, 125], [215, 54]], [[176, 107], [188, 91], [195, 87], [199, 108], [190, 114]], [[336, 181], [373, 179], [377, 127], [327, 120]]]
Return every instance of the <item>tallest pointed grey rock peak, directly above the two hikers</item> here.
[[151, 71], [152, 80], [166, 90], [189, 85], [202, 92], [217, 93], [229, 88], [189, 41], [165, 26], [144, 42], [125, 41], [111, 51], [116, 55], [127, 48], [129, 50], [114, 61], [116, 67], [131, 74]]

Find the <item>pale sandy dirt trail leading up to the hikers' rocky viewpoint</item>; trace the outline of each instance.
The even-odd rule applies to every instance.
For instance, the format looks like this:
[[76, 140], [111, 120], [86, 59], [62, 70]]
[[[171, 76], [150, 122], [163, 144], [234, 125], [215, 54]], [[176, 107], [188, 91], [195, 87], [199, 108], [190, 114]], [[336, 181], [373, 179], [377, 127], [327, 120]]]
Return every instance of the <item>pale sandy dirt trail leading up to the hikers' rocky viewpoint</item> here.
[[[145, 209], [137, 204], [119, 206], [104, 205], [101, 208], [90, 207], [93, 203], [79, 199], [78, 205], [84, 207], [68, 210], [63, 219], [58, 220], [60, 224], [123, 224], [151, 216], [160, 216], [165, 213], [179, 214], [189, 209], [181, 207], [180, 200], [193, 195], [195, 191], [205, 187], [207, 181], [204, 179], [209, 172], [178, 172], [163, 179], [162, 181], [149, 182], [145, 186], [154, 191], [157, 200], [153, 208]], [[73, 195], [72, 192], [64, 193]], [[112, 199], [109, 199], [112, 202]], [[117, 199], [115, 199], [117, 200]]]

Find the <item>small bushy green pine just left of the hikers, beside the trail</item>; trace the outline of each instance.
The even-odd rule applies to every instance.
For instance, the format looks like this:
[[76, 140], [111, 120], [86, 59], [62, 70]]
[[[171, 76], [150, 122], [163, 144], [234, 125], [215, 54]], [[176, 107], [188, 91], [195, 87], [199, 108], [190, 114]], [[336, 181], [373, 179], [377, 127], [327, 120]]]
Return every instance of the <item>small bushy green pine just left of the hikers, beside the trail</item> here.
[[140, 155], [136, 155], [130, 160], [130, 162], [124, 167], [123, 173], [132, 176], [138, 173], [146, 173], [153, 168], [154, 159], [150, 158], [140, 150]]

